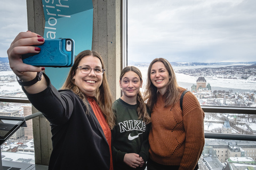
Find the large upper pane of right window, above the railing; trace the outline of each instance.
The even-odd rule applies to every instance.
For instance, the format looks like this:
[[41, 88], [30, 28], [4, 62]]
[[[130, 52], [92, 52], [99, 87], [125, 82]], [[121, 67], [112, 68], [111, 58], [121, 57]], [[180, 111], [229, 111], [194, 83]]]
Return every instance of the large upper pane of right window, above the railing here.
[[[128, 1], [128, 65], [166, 58], [205, 106], [256, 107], [255, 1]], [[142, 89], [143, 91], [143, 89]]]

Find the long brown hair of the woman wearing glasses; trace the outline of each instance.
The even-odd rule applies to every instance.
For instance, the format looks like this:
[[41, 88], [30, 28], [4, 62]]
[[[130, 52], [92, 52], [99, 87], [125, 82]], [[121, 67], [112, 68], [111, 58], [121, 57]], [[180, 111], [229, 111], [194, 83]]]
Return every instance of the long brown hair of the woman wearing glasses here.
[[[97, 52], [94, 52], [94, 51], [91, 51], [91, 50], [84, 50], [83, 52], [79, 53], [76, 56], [75, 61], [74, 61], [74, 65], [71, 67], [65, 83], [61, 87], [61, 89], [70, 89], [70, 90], [72, 90], [76, 95], [78, 95], [84, 101], [84, 104], [87, 108], [89, 108], [89, 105], [86, 101], [86, 95], [82, 92], [81, 89], [79, 89], [76, 86], [76, 84], [74, 83], [74, 81], [72, 79], [73, 79], [74, 75], [76, 74], [76, 69], [78, 67], [79, 62], [84, 57], [91, 56], [91, 55], [93, 57], [99, 58], [99, 60], [101, 62], [101, 65], [102, 65], [102, 69], [105, 69], [102, 57]], [[115, 125], [115, 115], [114, 115], [114, 113], [112, 112], [112, 109], [111, 109], [112, 95], [111, 95], [111, 92], [110, 92], [110, 89], [109, 89], [109, 86], [108, 86], [106, 73], [104, 73], [102, 75], [102, 84], [99, 87], [99, 89], [97, 90], [95, 98], [97, 99], [97, 101], [99, 103], [99, 107], [100, 107], [104, 117], [106, 118], [110, 129], [113, 129], [113, 127]]]

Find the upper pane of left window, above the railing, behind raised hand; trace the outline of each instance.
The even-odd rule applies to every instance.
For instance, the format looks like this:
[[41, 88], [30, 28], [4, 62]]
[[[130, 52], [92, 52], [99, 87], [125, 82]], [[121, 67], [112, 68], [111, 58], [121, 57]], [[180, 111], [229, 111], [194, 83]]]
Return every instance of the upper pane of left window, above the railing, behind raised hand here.
[[18, 33], [28, 30], [26, 0], [1, 1], [0, 21], [0, 96], [26, 97], [10, 69], [6, 53]]

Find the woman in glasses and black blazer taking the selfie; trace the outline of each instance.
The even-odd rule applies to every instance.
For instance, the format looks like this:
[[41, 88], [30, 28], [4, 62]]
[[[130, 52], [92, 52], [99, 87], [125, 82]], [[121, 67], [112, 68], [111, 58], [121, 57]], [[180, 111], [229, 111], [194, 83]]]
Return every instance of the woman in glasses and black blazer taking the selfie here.
[[113, 169], [110, 129], [115, 122], [101, 56], [90, 50], [79, 53], [58, 91], [40, 73], [44, 67], [22, 62], [22, 54], [39, 53], [33, 45], [43, 43], [36, 33], [21, 32], [7, 54], [29, 101], [51, 123], [49, 169]]

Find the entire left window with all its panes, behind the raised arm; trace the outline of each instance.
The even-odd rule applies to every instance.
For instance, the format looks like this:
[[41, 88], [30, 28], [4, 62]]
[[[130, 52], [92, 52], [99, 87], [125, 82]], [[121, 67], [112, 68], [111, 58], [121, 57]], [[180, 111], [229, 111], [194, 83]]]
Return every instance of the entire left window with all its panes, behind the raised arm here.
[[[31, 104], [21, 90], [15, 74], [10, 69], [7, 49], [15, 36], [27, 31], [26, 0], [4, 0], [0, 6], [0, 116], [26, 117], [32, 113]], [[15, 103], [6, 101], [16, 100]], [[25, 100], [25, 103], [16, 103]], [[1, 146], [2, 160], [35, 163], [32, 120], [26, 121], [27, 127], [21, 127]], [[5, 163], [4, 163], [5, 165]]]

